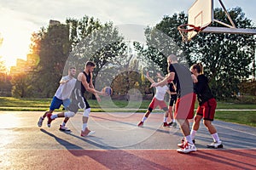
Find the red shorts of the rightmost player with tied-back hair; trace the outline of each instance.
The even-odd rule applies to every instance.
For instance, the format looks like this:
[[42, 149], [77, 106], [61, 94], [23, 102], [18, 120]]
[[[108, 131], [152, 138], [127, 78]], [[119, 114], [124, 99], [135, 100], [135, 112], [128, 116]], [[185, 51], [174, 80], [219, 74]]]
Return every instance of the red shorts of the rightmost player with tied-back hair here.
[[204, 120], [213, 121], [215, 110], [217, 107], [216, 99], [209, 99], [203, 105], [199, 105], [196, 110], [196, 115], [203, 116]]

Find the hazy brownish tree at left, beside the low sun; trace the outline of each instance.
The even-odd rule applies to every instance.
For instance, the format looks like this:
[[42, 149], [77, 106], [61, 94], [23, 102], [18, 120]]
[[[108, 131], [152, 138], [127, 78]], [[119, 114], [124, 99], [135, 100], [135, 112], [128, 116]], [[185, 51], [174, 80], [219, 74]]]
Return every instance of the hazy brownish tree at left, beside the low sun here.
[[68, 26], [49, 25], [33, 35], [32, 51], [39, 55], [38, 67], [32, 77], [33, 88], [40, 97], [51, 97], [59, 85], [69, 54]]

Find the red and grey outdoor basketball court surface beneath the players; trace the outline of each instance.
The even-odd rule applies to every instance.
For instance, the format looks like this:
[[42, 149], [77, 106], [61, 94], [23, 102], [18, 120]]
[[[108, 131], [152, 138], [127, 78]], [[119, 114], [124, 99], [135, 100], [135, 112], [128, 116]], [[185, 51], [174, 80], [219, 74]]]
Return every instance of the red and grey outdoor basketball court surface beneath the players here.
[[0, 111], [0, 169], [256, 169], [255, 127], [214, 122], [224, 149], [207, 149], [212, 142], [201, 126], [197, 151], [177, 153], [178, 128], [162, 127], [153, 114], [137, 127], [142, 113], [91, 113], [94, 136], [79, 136], [81, 114], [67, 124], [72, 133], [37, 127], [44, 112]]

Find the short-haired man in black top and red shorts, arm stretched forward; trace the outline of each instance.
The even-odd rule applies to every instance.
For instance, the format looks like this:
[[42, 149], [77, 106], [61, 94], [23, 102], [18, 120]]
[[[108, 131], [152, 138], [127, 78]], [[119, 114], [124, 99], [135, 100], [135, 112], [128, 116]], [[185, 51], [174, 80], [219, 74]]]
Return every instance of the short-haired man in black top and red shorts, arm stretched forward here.
[[189, 153], [195, 151], [195, 144], [193, 144], [190, 130], [189, 119], [194, 117], [195, 108], [195, 93], [193, 92], [193, 80], [189, 69], [177, 63], [177, 56], [171, 54], [167, 58], [168, 62], [168, 76], [161, 82], [153, 83], [151, 87], [161, 86], [167, 82], [173, 81], [177, 88], [177, 103], [174, 113], [174, 118], [181, 127], [186, 143], [183, 148], [177, 150], [179, 153]]

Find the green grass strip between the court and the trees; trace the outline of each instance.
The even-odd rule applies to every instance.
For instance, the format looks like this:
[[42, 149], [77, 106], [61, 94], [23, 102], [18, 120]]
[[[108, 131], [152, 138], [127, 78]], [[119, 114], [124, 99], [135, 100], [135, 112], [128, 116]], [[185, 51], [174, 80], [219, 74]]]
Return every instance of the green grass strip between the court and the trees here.
[[[0, 97], [0, 111], [47, 111], [49, 110], [51, 99], [33, 98], [33, 99], [16, 99], [11, 97]], [[139, 108], [141, 110], [133, 110], [137, 112], [145, 112], [148, 108], [150, 100], [143, 100], [142, 102], [133, 101], [128, 102], [124, 100], [111, 100], [103, 98], [102, 102], [98, 103], [96, 100], [89, 100], [91, 111], [132, 111], [126, 108]], [[197, 107], [195, 104], [195, 108]], [[104, 108], [104, 109], [102, 109]], [[108, 108], [108, 109], [105, 109]], [[111, 109], [111, 110], [109, 110]], [[224, 110], [242, 110], [242, 109], [256, 109], [256, 105], [241, 105], [218, 102], [217, 109]], [[62, 108], [56, 111], [62, 111]], [[216, 111], [215, 119], [225, 122], [236, 122], [249, 126], [256, 127], [256, 111]]]

